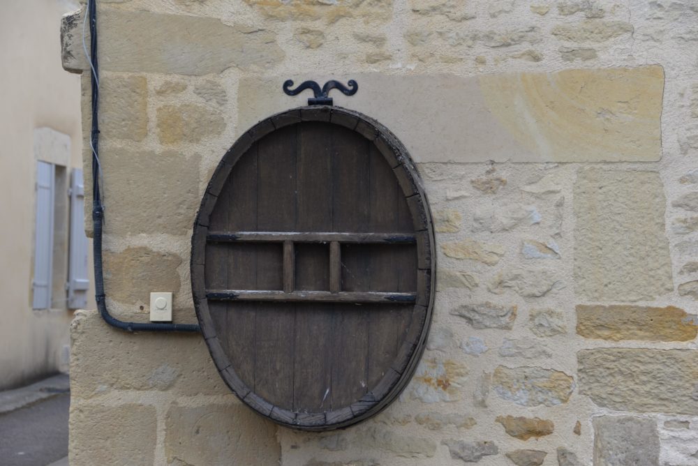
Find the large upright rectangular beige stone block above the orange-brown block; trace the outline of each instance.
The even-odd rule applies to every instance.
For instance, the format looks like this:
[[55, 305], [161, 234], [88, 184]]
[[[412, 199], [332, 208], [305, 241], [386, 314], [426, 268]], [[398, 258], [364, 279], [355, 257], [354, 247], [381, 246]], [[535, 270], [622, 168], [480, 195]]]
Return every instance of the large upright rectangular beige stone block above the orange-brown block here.
[[574, 184], [574, 285], [589, 301], [674, 290], [658, 172], [590, 168]]

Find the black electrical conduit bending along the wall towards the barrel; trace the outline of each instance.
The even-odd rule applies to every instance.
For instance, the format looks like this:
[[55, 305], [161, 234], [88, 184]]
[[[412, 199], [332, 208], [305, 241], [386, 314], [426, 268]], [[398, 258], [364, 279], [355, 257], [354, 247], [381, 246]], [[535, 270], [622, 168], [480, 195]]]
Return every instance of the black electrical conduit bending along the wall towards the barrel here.
[[110, 315], [107, 310], [104, 292], [104, 278], [102, 274], [102, 221], [104, 218], [104, 208], [99, 193], [100, 166], [98, 158], [99, 124], [98, 124], [98, 100], [99, 100], [99, 75], [97, 66], [97, 8], [95, 0], [89, 0], [87, 5], [89, 11], [89, 32], [90, 32], [90, 57], [91, 77], [92, 77], [92, 131], [90, 133], [90, 145], [92, 149], [92, 221], [94, 234], [92, 238], [94, 248], [94, 288], [95, 299], [99, 313], [107, 324], [117, 327], [117, 329], [130, 332], [135, 331], [186, 331], [196, 332], [200, 328], [196, 324], [166, 324], [148, 322], [123, 322]]

